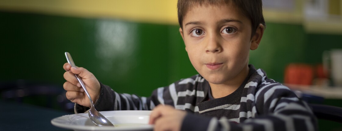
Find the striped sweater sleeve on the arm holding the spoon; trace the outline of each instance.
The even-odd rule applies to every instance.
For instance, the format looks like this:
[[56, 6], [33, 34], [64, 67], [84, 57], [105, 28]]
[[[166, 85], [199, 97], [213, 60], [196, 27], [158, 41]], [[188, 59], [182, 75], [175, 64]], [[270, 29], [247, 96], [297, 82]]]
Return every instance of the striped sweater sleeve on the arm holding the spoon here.
[[[195, 81], [195, 79], [202, 81], [203, 78], [198, 75], [194, 75], [191, 79], [193, 79], [193, 81]], [[171, 94], [178, 91], [194, 90], [195, 88], [191, 83], [181, 85], [177, 84], [183, 80], [184, 79], [181, 79], [169, 86], [155, 89], [150, 97], [139, 97], [135, 94], [127, 93], [120, 94], [100, 82], [100, 97], [94, 103], [94, 106], [97, 111], [153, 110], [153, 108], [159, 104], [175, 106], [177, 101], [174, 100], [174, 96]], [[84, 113], [87, 110], [89, 110], [88, 107], [75, 104], [75, 113]]]

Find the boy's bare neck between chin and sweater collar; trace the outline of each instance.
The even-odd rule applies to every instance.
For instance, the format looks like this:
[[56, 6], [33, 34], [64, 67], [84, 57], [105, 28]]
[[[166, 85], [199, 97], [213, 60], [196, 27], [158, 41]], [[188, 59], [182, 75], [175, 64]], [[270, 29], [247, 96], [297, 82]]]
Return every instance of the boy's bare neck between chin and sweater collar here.
[[235, 77], [234, 79], [226, 83], [223, 83], [223, 84], [209, 83], [212, 97], [221, 98], [221, 97], [225, 97], [233, 93], [245, 81], [246, 77], [248, 76], [248, 73], [249, 73], [249, 67], [247, 66], [247, 68], [244, 68], [241, 70], [240, 75], [238, 75], [237, 77]]

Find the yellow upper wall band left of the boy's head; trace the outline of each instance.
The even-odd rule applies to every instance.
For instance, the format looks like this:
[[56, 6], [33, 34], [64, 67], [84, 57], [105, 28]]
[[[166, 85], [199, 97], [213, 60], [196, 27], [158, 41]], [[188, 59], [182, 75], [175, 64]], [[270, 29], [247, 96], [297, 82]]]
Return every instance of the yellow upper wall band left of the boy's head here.
[[177, 0], [0, 0], [0, 10], [177, 24]]

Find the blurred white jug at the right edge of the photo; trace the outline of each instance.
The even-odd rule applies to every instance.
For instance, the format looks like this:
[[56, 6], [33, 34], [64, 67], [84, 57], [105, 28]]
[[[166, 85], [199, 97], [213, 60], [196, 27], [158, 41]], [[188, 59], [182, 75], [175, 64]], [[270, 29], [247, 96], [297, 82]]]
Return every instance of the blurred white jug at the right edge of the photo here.
[[329, 73], [333, 86], [342, 87], [342, 49], [323, 52], [323, 66]]

